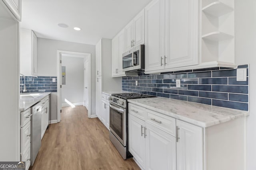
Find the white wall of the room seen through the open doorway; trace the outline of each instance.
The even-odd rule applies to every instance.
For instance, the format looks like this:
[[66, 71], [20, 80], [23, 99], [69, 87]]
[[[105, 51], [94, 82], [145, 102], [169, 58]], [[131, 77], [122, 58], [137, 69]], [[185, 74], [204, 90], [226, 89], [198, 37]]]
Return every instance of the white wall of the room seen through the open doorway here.
[[62, 66], [66, 66], [66, 84], [62, 84], [62, 104], [65, 99], [71, 103], [84, 100], [84, 58], [62, 56]]

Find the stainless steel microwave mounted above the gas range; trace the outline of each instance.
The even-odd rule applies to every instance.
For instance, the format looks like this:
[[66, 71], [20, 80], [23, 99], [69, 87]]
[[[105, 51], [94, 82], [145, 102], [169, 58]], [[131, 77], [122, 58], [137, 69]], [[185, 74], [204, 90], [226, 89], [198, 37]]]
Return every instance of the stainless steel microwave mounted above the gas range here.
[[123, 53], [123, 71], [144, 70], [144, 45], [138, 45]]

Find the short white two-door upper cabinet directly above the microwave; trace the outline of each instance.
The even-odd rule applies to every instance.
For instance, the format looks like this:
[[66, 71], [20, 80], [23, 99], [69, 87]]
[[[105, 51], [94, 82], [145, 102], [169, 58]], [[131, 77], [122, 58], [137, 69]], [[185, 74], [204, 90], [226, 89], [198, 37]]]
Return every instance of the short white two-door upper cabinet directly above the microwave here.
[[125, 27], [125, 51], [136, 45], [144, 44], [144, 9]]

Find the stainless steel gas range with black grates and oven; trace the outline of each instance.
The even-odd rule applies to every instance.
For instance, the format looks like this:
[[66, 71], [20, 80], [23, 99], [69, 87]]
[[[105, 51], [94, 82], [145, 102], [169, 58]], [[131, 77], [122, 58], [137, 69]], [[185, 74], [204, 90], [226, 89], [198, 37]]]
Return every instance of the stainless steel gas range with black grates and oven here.
[[150, 98], [146, 94], [120, 93], [109, 97], [110, 103], [110, 141], [124, 159], [131, 158], [128, 150], [128, 102], [127, 99]]

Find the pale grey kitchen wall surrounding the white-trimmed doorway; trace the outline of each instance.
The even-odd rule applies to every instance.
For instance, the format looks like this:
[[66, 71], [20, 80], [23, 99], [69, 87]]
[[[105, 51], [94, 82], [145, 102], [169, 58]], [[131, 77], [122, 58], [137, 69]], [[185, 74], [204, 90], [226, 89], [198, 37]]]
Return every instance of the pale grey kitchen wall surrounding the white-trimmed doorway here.
[[[38, 76], [57, 76], [57, 50], [74, 51], [91, 54], [92, 110], [95, 115], [95, 45], [58, 41], [53, 39], [37, 39]], [[54, 98], [51, 104], [57, 104]], [[52, 120], [57, 119], [57, 105], [52, 106]], [[56, 119], [55, 119], [56, 117]]]

